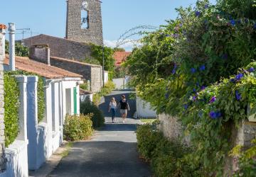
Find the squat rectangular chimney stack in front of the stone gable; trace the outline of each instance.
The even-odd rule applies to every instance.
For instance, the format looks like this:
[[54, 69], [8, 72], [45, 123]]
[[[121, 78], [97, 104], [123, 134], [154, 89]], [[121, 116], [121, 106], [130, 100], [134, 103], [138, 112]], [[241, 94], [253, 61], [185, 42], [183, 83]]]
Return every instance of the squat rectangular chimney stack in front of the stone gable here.
[[29, 58], [50, 66], [50, 48], [48, 45], [33, 45], [29, 49]]

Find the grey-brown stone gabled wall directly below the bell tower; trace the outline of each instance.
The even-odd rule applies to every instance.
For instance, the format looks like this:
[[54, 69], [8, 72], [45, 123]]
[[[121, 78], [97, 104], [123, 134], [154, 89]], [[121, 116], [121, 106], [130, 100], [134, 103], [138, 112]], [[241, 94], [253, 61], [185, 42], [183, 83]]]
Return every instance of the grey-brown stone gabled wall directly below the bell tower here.
[[55, 38], [50, 35], [36, 35], [25, 39], [24, 42], [27, 47], [32, 47], [33, 45], [48, 45], [50, 48], [50, 56], [54, 57], [82, 61], [86, 57], [90, 58], [91, 54], [90, 45], [86, 43]]

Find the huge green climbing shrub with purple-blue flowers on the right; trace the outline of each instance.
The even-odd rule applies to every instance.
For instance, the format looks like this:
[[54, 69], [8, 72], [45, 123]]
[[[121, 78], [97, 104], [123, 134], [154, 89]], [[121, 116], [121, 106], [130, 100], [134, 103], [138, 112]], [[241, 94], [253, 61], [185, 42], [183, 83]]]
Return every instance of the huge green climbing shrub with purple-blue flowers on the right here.
[[223, 174], [231, 127], [247, 118], [247, 106], [255, 111], [254, 4], [198, 1], [178, 8], [178, 18], [143, 38], [126, 62], [139, 96], [158, 113], [180, 118], [191, 135], [191, 162], [205, 176]]

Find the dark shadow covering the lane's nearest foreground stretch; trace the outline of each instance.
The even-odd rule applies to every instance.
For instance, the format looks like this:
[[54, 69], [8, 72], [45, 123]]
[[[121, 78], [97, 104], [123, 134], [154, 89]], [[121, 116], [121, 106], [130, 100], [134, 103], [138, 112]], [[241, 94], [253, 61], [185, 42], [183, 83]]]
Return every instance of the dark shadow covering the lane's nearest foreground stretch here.
[[49, 176], [149, 177], [151, 171], [135, 142], [75, 142]]

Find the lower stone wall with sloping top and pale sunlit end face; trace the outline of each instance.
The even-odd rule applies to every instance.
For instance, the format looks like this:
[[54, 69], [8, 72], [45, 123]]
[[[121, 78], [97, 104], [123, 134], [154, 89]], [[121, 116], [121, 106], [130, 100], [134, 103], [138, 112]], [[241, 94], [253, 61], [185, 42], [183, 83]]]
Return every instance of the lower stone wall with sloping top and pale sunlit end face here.
[[50, 57], [50, 64], [54, 67], [65, 69], [83, 76], [83, 79], [89, 80], [91, 91], [98, 92], [102, 88], [102, 67], [95, 64], [86, 64], [75, 62], [69, 59], [60, 59], [58, 57]]

